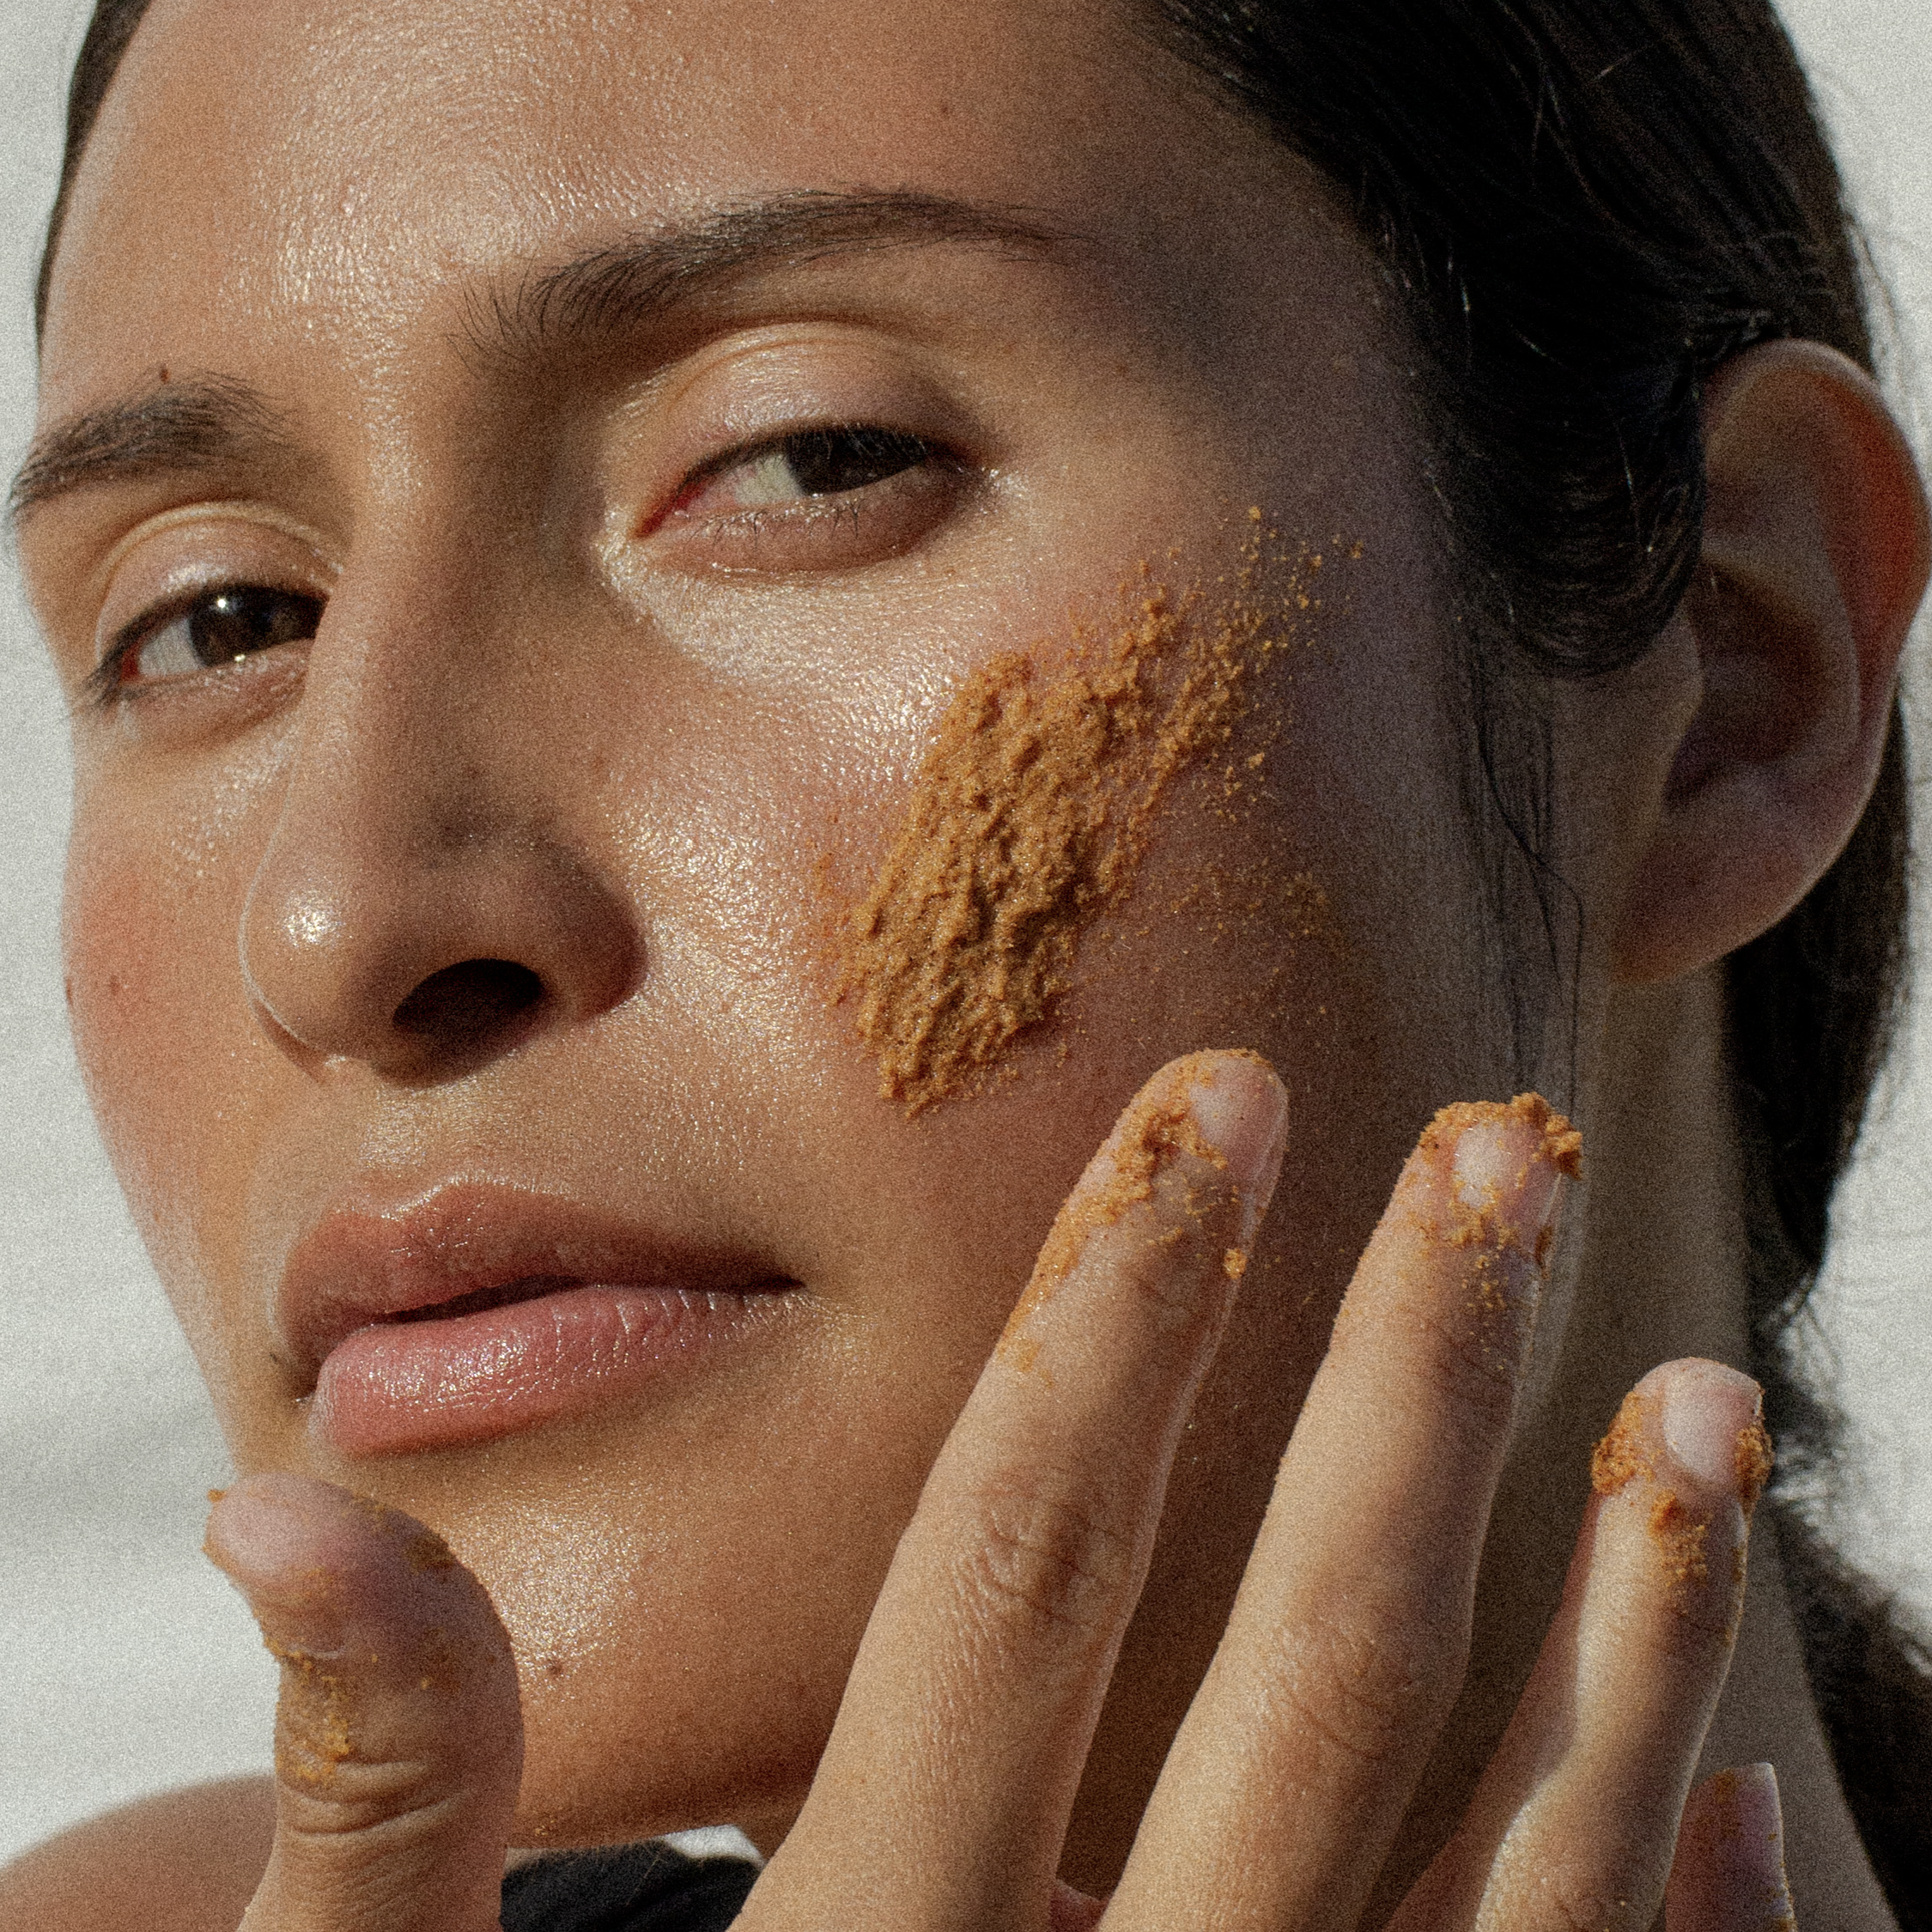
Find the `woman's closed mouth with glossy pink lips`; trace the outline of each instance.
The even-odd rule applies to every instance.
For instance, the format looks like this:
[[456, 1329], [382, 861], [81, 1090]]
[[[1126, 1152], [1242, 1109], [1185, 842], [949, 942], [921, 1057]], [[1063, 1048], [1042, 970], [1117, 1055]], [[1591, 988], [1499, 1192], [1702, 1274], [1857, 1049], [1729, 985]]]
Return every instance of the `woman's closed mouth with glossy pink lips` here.
[[327, 1213], [290, 1256], [274, 1316], [309, 1434], [379, 1457], [645, 1397], [800, 1294], [750, 1252], [458, 1182]]

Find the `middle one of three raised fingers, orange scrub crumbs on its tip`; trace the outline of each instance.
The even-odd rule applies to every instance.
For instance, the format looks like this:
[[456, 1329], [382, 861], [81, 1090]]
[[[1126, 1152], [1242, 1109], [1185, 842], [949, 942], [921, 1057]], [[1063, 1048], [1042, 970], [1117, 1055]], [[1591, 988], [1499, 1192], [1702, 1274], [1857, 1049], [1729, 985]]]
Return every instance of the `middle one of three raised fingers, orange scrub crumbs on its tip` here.
[[1468, 1658], [1569, 1122], [1449, 1107], [1397, 1182], [1289, 1441], [1109, 1926], [1352, 1924]]

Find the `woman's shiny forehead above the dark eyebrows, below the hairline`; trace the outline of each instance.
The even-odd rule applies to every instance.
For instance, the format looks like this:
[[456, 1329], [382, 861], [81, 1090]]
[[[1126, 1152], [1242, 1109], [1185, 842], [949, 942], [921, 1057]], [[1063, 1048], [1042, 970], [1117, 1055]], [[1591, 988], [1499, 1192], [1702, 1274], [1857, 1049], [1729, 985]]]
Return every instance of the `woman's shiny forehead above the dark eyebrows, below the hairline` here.
[[367, 342], [477, 272], [800, 187], [1200, 232], [1252, 220], [1256, 166], [1279, 191], [1264, 149], [1095, 0], [156, 0], [75, 184], [43, 379], [149, 359], [189, 296]]

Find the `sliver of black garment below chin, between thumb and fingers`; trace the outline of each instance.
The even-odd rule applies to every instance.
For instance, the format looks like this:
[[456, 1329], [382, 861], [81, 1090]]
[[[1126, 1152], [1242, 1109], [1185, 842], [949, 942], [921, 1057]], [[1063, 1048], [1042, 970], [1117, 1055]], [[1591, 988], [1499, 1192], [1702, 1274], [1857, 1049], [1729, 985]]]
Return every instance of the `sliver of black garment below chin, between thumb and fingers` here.
[[757, 1880], [746, 1859], [686, 1859], [655, 1839], [564, 1851], [502, 1882], [502, 1932], [723, 1932]]

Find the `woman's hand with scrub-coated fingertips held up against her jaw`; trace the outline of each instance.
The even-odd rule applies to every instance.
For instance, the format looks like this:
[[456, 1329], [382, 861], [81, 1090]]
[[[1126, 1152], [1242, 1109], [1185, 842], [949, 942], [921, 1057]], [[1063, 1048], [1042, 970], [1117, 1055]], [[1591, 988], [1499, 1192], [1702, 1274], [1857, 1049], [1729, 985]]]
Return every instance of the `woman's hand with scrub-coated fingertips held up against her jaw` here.
[[[1468, 1656], [1561, 1144], [1451, 1109], [1356, 1269], [1219, 1652], [1117, 1891], [1057, 1878], [1169, 1466], [1281, 1163], [1248, 1055], [1163, 1068], [1074, 1188], [898, 1544], [744, 1932], [1343, 1932]], [[1598, 1453], [1557, 1617], [1395, 1932], [1774, 1932], [1770, 1768], [1690, 1791], [1762, 1480], [1756, 1391], [1652, 1372]], [[442, 1544], [253, 1478], [211, 1553], [284, 1656], [251, 1932], [487, 1932], [522, 1758], [510, 1646]], [[1689, 1801], [1687, 1801], [1689, 1793]]]

